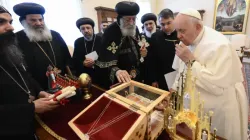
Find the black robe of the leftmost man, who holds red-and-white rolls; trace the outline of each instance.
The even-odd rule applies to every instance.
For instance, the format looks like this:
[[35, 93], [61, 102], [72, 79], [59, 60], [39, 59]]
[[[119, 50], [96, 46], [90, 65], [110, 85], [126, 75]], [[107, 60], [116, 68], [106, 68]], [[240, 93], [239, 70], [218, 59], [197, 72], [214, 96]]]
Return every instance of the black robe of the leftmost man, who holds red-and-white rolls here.
[[[3, 61], [0, 64], [26, 90], [16, 69]], [[31, 95], [37, 97], [41, 89], [36, 81], [23, 67], [18, 67], [18, 70], [31, 91]], [[29, 103], [28, 99], [29, 95], [0, 68], [0, 139], [33, 140], [35, 106], [34, 103]]]

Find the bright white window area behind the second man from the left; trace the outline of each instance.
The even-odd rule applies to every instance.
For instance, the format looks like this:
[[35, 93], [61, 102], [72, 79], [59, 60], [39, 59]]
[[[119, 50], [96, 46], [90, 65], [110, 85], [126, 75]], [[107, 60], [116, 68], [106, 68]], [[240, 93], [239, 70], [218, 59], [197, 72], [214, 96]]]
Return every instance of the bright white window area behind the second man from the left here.
[[12, 14], [14, 32], [23, 29], [19, 16], [13, 11], [13, 6], [22, 2], [34, 2], [45, 7], [46, 25], [49, 29], [59, 32], [67, 45], [73, 46], [74, 41], [82, 36], [75, 24], [76, 20], [82, 17], [81, 0], [1, 0], [1, 5]]

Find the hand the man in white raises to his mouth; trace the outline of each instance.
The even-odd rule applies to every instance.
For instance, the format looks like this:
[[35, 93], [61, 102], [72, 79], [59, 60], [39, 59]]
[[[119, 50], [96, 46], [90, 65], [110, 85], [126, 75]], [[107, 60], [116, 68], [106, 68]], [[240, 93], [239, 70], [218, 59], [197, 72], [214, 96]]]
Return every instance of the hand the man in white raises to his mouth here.
[[193, 61], [195, 59], [192, 52], [184, 44], [176, 44], [175, 46], [176, 55], [185, 63], [187, 63], [188, 61]]

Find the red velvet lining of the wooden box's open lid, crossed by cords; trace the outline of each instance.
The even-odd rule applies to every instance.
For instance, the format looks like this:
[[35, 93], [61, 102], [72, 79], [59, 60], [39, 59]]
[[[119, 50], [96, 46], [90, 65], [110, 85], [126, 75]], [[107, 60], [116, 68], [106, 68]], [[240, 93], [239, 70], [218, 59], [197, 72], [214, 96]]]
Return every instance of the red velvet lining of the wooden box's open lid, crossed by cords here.
[[[106, 107], [110, 99], [107, 97], [102, 97], [98, 102], [96, 102], [92, 107], [90, 107], [85, 113], [83, 113], [78, 119], [74, 121], [74, 124], [84, 133], [86, 134], [90, 127], [93, 125], [95, 120], [101, 114], [103, 109]], [[97, 123], [96, 127], [112, 120], [113, 118], [121, 115], [122, 113], [126, 112], [128, 109], [124, 106], [116, 103], [111, 102], [99, 122]], [[136, 122], [139, 118], [139, 114], [132, 113], [129, 116], [123, 118], [122, 120], [112, 124], [111, 126], [102, 129], [96, 134], [90, 136], [90, 139], [96, 140], [118, 140], [122, 139], [128, 130], [132, 127], [132, 125]], [[94, 128], [94, 129], [95, 129]]]

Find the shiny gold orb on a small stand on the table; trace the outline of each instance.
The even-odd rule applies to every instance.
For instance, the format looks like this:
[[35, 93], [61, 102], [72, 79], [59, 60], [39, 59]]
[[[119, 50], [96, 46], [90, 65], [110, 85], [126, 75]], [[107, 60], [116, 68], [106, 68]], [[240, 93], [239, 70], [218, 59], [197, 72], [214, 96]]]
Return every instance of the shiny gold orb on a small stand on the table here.
[[83, 73], [79, 76], [78, 82], [84, 92], [83, 98], [85, 100], [90, 99], [92, 97], [92, 94], [90, 93], [90, 88], [92, 84], [91, 77], [87, 73]]

